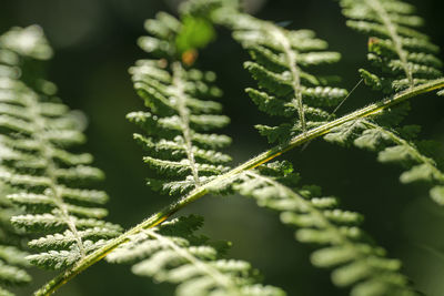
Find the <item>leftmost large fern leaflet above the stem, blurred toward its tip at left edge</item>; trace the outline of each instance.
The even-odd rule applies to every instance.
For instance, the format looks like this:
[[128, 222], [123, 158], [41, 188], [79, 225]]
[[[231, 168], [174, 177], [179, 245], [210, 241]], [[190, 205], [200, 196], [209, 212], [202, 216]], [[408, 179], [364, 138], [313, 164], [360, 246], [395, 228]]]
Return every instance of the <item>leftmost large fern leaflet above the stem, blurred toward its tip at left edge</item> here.
[[[51, 49], [37, 27], [14, 28], [0, 38], [1, 52], [14, 59], [2, 67], [21, 72], [26, 58], [48, 59]], [[48, 234], [29, 243], [43, 253], [27, 258], [44, 268], [68, 267], [118, 236], [120, 226], [100, 221], [108, 195], [90, 190], [103, 173], [90, 154], [67, 149], [84, 141], [82, 119], [60, 103], [50, 82], [0, 76], [0, 180], [13, 192], [9, 202], [24, 211], [11, 222], [23, 232]], [[8, 73], [8, 72], [6, 72]], [[79, 188], [84, 187], [84, 188]], [[64, 231], [64, 232], [63, 232]]]

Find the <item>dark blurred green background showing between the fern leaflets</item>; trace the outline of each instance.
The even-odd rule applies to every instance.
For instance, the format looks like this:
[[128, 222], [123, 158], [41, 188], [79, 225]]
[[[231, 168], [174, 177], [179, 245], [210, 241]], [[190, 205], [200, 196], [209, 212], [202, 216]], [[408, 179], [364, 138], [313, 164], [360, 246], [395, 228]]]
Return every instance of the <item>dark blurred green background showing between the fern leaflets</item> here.
[[[109, 220], [130, 227], [171, 202], [144, 185], [149, 175], [141, 162], [142, 151], [132, 141], [135, 127], [124, 115], [141, 110], [142, 101], [132, 89], [128, 68], [145, 54], [135, 45], [144, 34], [143, 21], [160, 11], [174, 13], [178, 0], [2, 0], [0, 31], [13, 25], [40, 24], [54, 50], [47, 74], [59, 86], [62, 100], [84, 111], [90, 120], [85, 151], [107, 173], [103, 188], [111, 195]], [[442, 49], [444, 25], [441, 0], [412, 1], [426, 19], [424, 31]], [[352, 89], [364, 65], [366, 39], [345, 27], [339, 4], [332, 0], [250, 0], [248, 9], [260, 18], [283, 22], [291, 29], [313, 29], [343, 54], [339, 67], [325, 69], [343, 76], [342, 85]], [[443, 54], [441, 54], [443, 58]], [[200, 52], [198, 67], [214, 70], [224, 90], [225, 113], [232, 119], [226, 129], [234, 142], [230, 153], [234, 163], [265, 150], [268, 144], [252, 127], [271, 122], [243, 93], [254, 85], [243, 71], [246, 54], [218, 30], [218, 39]], [[380, 99], [361, 85], [342, 108], [345, 113]], [[422, 95], [413, 101], [408, 123], [423, 126], [422, 136], [444, 144], [444, 101]], [[444, 149], [441, 150], [444, 155]], [[340, 196], [346, 210], [363, 213], [363, 227], [404, 262], [405, 273], [431, 296], [444, 295], [444, 210], [437, 208], [421, 185], [404, 186], [398, 169], [379, 164], [375, 155], [344, 150], [315, 141], [304, 150], [285, 155], [302, 174], [304, 183], [319, 184], [324, 193]], [[346, 295], [332, 286], [329, 272], [311, 267], [310, 247], [293, 239], [292, 229], [281, 226], [274, 213], [258, 208], [239, 196], [205, 197], [185, 213], [205, 217], [205, 234], [233, 242], [231, 256], [253, 263], [265, 282], [282, 286], [289, 295]], [[34, 272], [37, 282], [50, 277]], [[36, 285], [36, 284], [34, 284]], [[37, 286], [32, 287], [36, 288]], [[20, 292], [29, 295], [31, 289]], [[133, 276], [127, 266], [99, 263], [59, 295], [171, 295], [169, 285]]]

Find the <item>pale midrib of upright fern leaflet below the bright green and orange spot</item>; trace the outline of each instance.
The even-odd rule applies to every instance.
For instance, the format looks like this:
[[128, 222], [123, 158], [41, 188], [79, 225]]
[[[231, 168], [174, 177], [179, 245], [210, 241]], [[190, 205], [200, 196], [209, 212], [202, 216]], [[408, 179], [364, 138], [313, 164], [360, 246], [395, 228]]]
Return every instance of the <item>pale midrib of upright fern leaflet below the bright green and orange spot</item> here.
[[182, 81], [183, 69], [180, 62], [174, 62], [172, 64], [172, 69], [173, 69], [173, 86], [175, 88], [176, 91], [175, 99], [178, 100], [176, 102], [178, 112], [181, 118], [182, 134], [183, 134], [183, 140], [185, 141], [186, 156], [190, 162], [191, 173], [194, 178], [195, 187], [199, 187], [201, 186], [201, 182], [199, 180], [198, 169], [195, 167], [193, 146], [191, 142], [190, 112], [185, 105], [186, 94]]

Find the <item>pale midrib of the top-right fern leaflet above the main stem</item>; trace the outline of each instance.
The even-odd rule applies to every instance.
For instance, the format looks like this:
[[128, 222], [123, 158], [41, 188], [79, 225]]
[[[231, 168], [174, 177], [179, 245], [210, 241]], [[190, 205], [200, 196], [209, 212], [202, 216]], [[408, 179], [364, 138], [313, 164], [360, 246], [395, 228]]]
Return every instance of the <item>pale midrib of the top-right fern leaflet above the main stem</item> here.
[[395, 45], [396, 54], [400, 57], [402, 68], [405, 72], [405, 75], [408, 80], [408, 84], [411, 88], [414, 86], [414, 81], [413, 81], [413, 73], [412, 70], [408, 67], [407, 62], [407, 54], [403, 50], [403, 45], [401, 42], [401, 38], [397, 34], [396, 31], [396, 25], [392, 22], [387, 11], [384, 9], [384, 7], [380, 3], [380, 0], [366, 0], [369, 7], [371, 7], [377, 16], [380, 16], [381, 21], [384, 23], [385, 28], [389, 30], [389, 34], [391, 39], [393, 40], [393, 43]]

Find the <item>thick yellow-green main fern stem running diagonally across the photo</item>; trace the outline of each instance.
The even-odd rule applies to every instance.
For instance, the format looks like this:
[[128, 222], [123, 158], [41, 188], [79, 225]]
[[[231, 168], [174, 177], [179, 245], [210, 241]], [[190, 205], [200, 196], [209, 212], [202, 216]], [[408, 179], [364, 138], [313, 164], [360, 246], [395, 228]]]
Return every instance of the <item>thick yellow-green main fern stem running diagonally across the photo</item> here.
[[300, 134], [295, 137], [293, 137], [291, 141], [289, 141], [285, 144], [281, 144], [278, 146], [272, 147], [271, 150], [259, 154], [258, 156], [244, 162], [243, 164], [239, 165], [238, 167], [231, 170], [230, 172], [218, 176], [213, 181], [202, 185], [201, 187], [198, 187], [193, 190], [189, 195], [182, 197], [181, 200], [176, 201], [175, 203], [167, 206], [159, 213], [152, 215], [148, 220], [143, 221], [139, 225], [134, 226], [133, 228], [129, 229], [128, 232], [123, 233], [119, 237], [112, 239], [111, 242], [107, 243], [104, 246], [101, 248], [97, 249], [95, 252], [87, 255], [84, 258], [82, 258], [75, 266], [73, 266], [70, 269], [67, 269], [64, 273], [60, 274], [49, 283], [47, 283], [43, 287], [41, 287], [39, 290], [36, 292], [34, 295], [51, 295], [54, 293], [58, 288], [63, 286], [67, 282], [75, 277], [78, 274], [90, 267], [91, 265], [95, 264], [103, 257], [105, 257], [109, 253], [111, 253], [114, 248], [117, 248], [119, 245], [123, 244], [124, 242], [128, 241], [128, 237], [139, 233], [142, 229], [151, 228], [160, 223], [164, 222], [167, 218], [169, 218], [171, 215], [173, 215], [175, 212], [180, 211], [181, 208], [185, 207], [188, 204], [199, 200], [200, 197], [204, 196], [206, 193], [209, 193], [209, 188], [222, 183], [225, 180], [232, 178], [235, 175], [239, 175], [242, 172], [245, 172], [248, 170], [254, 169], [263, 163], [266, 163], [279, 155], [283, 154], [284, 152], [287, 152], [296, 146], [300, 146], [313, 139], [316, 139], [319, 136], [322, 136], [326, 133], [329, 133], [333, 127], [340, 126], [349, 121], [353, 121], [356, 119], [364, 119], [374, 114], [380, 113], [381, 111], [396, 105], [398, 103], [402, 103], [413, 96], [420, 95], [422, 93], [431, 92], [433, 90], [442, 89], [444, 88], [444, 79], [438, 79], [431, 81], [428, 83], [408, 89], [402, 93], [395, 94], [394, 96], [391, 96], [389, 99], [385, 99], [381, 102], [373, 103], [371, 105], [367, 105], [363, 109], [360, 109], [355, 112], [352, 112], [347, 115], [344, 115], [337, 120], [331, 121], [329, 123], [325, 123], [316, 129], [310, 130], [306, 133]]

